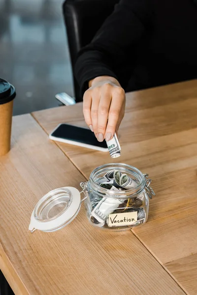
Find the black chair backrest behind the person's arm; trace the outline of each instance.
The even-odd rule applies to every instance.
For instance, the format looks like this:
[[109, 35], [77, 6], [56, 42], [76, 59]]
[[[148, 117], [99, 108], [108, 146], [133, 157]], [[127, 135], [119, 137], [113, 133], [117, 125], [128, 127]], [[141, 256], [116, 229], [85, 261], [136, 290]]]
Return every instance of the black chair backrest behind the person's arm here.
[[[118, 2], [119, 0], [66, 0], [64, 2], [63, 13], [72, 72], [78, 52], [91, 42]], [[73, 82], [76, 102], [82, 101], [79, 86], [74, 76]]]

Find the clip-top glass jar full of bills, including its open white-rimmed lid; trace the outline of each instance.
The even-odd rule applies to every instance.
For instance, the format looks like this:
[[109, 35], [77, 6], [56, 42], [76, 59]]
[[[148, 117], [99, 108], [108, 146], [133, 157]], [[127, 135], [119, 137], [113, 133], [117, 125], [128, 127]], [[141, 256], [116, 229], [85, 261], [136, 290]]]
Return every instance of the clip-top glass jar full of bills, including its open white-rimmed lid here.
[[[29, 230], [54, 232], [77, 216], [84, 201], [89, 222], [98, 228], [125, 231], [144, 224], [148, 218], [149, 199], [155, 195], [148, 174], [127, 164], [99, 166], [82, 191], [62, 187], [50, 191], [35, 206]], [[80, 194], [85, 197], [81, 200]]]

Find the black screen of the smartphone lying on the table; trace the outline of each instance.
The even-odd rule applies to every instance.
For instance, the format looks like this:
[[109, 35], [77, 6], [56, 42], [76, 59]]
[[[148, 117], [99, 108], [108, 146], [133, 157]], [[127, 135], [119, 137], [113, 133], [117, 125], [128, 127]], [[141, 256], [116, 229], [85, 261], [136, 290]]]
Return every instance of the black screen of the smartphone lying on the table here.
[[94, 132], [90, 129], [81, 128], [69, 124], [61, 124], [52, 134], [56, 138], [75, 141], [99, 148], [107, 148], [106, 141], [98, 142]]

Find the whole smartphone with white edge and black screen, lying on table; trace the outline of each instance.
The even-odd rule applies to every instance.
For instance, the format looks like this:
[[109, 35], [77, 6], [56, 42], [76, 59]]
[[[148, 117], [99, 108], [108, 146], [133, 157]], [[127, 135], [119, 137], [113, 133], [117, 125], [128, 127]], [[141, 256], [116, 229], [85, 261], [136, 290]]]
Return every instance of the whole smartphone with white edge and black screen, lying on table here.
[[69, 124], [59, 124], [49, 135], [49, 138], [66, 144], [83, 148], [108, 151], [106, 141], [98, 142], [94, 132], [90, 129]]

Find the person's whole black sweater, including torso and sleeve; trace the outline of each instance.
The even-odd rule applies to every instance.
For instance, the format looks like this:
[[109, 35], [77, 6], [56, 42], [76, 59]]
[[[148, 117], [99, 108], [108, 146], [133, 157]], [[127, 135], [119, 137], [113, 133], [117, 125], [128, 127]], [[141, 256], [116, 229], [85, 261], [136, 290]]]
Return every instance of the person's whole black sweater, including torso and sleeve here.
[[196, 78], [196, 0], [121, 0], [75, 64], [82, 94], [103, 75], [126, 91]]

